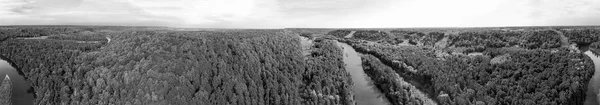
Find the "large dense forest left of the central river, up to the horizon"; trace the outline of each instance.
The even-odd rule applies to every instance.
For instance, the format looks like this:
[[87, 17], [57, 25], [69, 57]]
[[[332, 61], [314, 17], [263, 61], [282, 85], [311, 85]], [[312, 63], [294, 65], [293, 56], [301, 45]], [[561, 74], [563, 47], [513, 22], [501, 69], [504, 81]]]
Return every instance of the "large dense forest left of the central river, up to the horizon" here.
[[331, 40], [303, 56], [298, 35], [281, 30], [58, 32], [3, 34], [0, 54], [31, 81], [35, 104], [353, 102]]

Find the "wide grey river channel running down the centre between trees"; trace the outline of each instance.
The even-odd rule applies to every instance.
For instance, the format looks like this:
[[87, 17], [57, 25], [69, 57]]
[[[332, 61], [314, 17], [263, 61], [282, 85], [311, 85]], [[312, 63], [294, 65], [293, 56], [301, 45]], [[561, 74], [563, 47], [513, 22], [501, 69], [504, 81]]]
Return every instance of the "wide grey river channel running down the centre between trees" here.
[[354, 98], [357, 105], [387, 105], [385, 97], [363, 71], [358, 53], [348, 44], [338, 42], [338, 45], [344, 49], [344, 63], [354, 82]]

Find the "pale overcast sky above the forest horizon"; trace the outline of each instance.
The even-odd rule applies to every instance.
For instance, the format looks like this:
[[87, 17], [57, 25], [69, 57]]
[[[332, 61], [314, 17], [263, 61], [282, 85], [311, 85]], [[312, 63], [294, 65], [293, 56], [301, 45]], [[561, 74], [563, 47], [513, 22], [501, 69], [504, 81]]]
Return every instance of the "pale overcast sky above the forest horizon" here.
[[0, 0], [0, 25], [198, 28], [600, 25], [600, 0]]

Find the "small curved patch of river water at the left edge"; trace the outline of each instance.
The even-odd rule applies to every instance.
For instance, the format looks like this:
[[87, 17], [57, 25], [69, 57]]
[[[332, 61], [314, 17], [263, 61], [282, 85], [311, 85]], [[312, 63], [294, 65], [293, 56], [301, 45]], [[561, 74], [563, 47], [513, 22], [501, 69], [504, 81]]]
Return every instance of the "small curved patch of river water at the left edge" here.
[[28, 92], [31, 88], [29, 83], [25, 81], [23, 75], [19, 75], [17, 69], [12, 67], [7, 61], [0, 59], [0, 81], [4, 80], [4, 76], [10, 77], [13, 90], [11, 102], [13, 105], [33, 105], [33, 92]]

